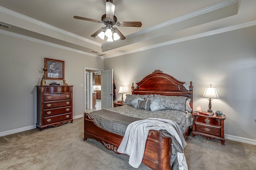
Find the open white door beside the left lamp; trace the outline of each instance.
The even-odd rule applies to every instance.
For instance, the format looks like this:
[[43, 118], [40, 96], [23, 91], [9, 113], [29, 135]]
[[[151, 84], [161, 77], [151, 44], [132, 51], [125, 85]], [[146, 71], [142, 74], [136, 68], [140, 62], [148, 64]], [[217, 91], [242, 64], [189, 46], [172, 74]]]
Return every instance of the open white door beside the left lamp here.
[[101, 108], [113, 107], [113, 69], [101, 72]]

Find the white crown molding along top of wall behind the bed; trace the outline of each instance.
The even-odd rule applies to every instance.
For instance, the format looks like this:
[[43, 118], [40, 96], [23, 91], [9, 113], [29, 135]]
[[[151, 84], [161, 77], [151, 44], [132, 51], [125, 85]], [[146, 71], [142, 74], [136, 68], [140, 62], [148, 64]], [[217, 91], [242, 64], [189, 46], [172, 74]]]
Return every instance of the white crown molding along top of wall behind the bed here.
[[157, 47], [162, 47], [162, 46], [165, 46], [165, 45], [171, 45], [171, 44], [180, 43], [180, 42], [183, 42], [183, 41], [188, 41], [188, 40], [192, 40], [192, 39], [207, 37], [207, 36], [210, 36], [210, 35], [225, 33], [225, 32], [228, 32], [228, 31], [234, 31], [234, 30], [237, 30], [237, 29], [251, 27], [251, 26], [254, 26], [254, 25], [256, 25], [256, 20], [246, 22], [246, 23], [241, 23], [241, 24], [238, 24], [238, 25], [232, 25], [232, 26], [229, 26], [229, 27], [216, 29], [216, 30], [213, 30], [213, 31], [207, 31], [207, 32], [204, 32], [204, 33], [190, 35], [190, 36], [187, 36], [187, 37], [182, 37], [182, 38], [179, 38], [179, 39], [174, 39], [174, 40], [171, 40], [171, 41], [166, 41], [166, 42], [163, 42], [163, 43], [150, 45], [150, 46], [143, 47], [143, 48], [140, 48], [140, 49], [136, 49], [136, 50], [132, 50], [132, 51], [126, 51], [124, 53], [119, 53], [119, 54], [115, 54], [115, 55], [106, 56], [106, 57], [104, 57], [104, 59], [108, 59], [108, 58], [112, 58], [112, 57], [118, 57], [118, 56], [121, 56], [121, 55], [126, 55], [126, 54], [131, 54], [131, 53], [136, 53], [136, 52], [139, 52], [139, 51], [145, 51], [145, 50], [148, 50], [148, 49], [154, 49], [154, 48], [157, 48]]

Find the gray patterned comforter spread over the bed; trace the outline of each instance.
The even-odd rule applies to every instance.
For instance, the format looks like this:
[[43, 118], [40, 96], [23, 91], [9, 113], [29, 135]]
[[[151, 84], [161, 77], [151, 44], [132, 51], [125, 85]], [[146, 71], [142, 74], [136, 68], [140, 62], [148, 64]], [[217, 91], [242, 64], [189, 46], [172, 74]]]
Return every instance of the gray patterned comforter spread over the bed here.
[[177, 110], [146, 111], [136, 109], [130, 105], [92, 111], [89, 114], [94, 119], [96, 125], [122, 136], [124, 136], [126, 128], [130, 123], [141, 119], [155, 117], [175, 121], [182, 133], [185, 133], [187, 127], [193, 123], [192, 115], [188, 112], [184, 113]]

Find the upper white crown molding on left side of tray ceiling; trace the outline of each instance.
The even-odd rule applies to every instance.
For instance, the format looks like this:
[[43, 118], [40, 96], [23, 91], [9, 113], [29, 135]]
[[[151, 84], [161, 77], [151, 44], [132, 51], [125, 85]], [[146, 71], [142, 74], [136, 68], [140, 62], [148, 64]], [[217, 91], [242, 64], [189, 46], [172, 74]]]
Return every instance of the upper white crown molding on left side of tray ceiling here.
[[70, 37], [74, 37], [74, 38], [80, 39], [80, 40], [82, 40], [82, 41], [86, 41], [86, 42], [88, 42], [88, 43], [91, 43], [91, 44], [94, 44], [94, 45], [97, 45], [97, 46], [100, 46], [100, 47], [101, 47], [101, 44], [100, 44], [100, 43], [97, 43], [96, 41], [92, 41], [92, 40], [87, 39], [87, 38], [85, 38], [85, 37], [82, 37], [82, 36], [76, 35], [76, 34], [74, 34], [74, 33], [65, 31], [64, 29], [60, 29], [60, 28], [58, 28], [58, 27], [54, 27], [54, 26], [52, 26], [52, 25], [50, 25], [50, 24], [48, 24], [48, 23], [44, 23], [44, 22], [39, 21], [39, 20], [36, 20], [36, 19], [34, 19], [34, 18], [30, 18], [30, 17], [25, 16], [25, 15], [23, 15], [23, 14], [20, 14], [20, 13], [18, 13], [18, 12], [9, 10], [9, 9], [7, 9], [7, 8], [4, 8], [4, 7], [2, 7], [2, 6], [0, 6], [0, 12], [4, 12], [4, 13], [10, 15], [10, 16], [14, 16], [14, 17], [16, 17], [16, 18], [20, 18], [20, 19], [22, 19], [22, 20], [25, 20], [25, 21], [34, 23], [34, 24], [39, 25], [39, 26], [42, 26], [42, 27], [46, 27], [46, 28], [51, 29], [51, 30], [53, 30], [53, 31], [57, 31], [57, 32], [59, 32], [59, 33], [66, 34], [66, 35], [68, 35], [68, 36], [70, 36]]

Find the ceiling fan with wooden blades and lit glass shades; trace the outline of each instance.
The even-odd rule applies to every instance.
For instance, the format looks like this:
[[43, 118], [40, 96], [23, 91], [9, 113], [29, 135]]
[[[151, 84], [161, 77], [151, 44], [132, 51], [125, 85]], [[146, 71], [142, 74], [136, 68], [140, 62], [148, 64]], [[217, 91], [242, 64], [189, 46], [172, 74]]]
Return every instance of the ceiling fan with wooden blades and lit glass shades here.
[[140, 21], [117, 21], [116, 16], [114, 16], [114, 10], [115, 5], [112, 3], [112, 0], [106, 0], [106, 14], [102, 15], [101, 21], [80, 16], [74, 16], [74, 18], [79, 20], [104, 23], [106, 26], [98, 29], [98, 31], [93, 33], [91, 37], [96, 37], [98, 35], [101, 39], [104, 39], [106, 36], [107, 41], [113, 41], [113, 39], [125, 39], [124, 35], [116, 27], [113, 27], [114, 25], [121, 27], [141, 27], [142, 23]]

